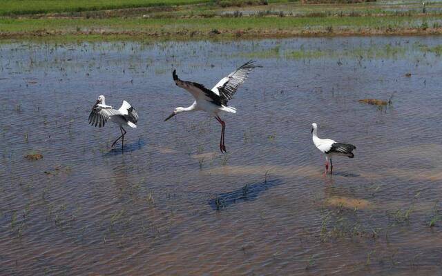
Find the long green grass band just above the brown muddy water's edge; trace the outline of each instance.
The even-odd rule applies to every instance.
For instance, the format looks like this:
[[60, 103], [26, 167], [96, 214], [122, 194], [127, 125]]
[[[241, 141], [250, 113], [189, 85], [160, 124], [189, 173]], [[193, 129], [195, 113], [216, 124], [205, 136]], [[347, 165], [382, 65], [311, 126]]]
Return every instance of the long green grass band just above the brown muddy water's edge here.
[[[431, 20], [431, 18], [428, 18]], [[434, 18], [436, 19], [436, 18]], [[190, 19], [0, 19], [0, 32], [32, 32], [35, 30], [47, 31], [75, 31], [78, 28], [87, 30], [108, 31], [159, 31], [177, 32], [208, 31], [217, 29], [229, 30], [313, 30], [317, 27], [332, 26], [337, 28], [382, 28], [390, 26], [401, 28], [405, 26], [419, 27], [420, 19], [414, 17], [240, 17], [240, 18], [190, 18]]]

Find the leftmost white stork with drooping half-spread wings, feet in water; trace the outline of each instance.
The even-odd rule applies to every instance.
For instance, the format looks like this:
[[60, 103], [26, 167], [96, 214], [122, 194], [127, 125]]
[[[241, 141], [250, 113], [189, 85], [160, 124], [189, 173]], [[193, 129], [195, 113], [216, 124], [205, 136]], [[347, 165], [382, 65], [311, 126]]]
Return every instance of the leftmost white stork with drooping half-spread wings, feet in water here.
[[112, 106], [107, 106], [104, 96], [100, 95], [90, 112], [89, 124], [101, 128], [106, 124], [108, 119], [117, 124], [119, 130], [122, 132], [122, 135], [113, 142], [112, 147], [115, 146], [117, 141], [121, 138], [122, 150], [124, 150], [124, 135], [126, 135], [126, 130], [124, 130], [123, 126], [137, 128], [137, 125], [135, 125], [138, 121], [137, 112], [127, 101], [123, 101], [122, 106], [118, 110], [114, 109]]

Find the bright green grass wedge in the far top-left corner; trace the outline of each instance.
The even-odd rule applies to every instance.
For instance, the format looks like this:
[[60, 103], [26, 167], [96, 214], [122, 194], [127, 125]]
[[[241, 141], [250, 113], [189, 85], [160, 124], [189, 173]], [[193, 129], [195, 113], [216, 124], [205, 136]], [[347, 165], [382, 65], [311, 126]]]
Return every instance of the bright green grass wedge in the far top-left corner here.
[[209, 3], [211, 0], [1, 0], [0, 15], [81, 12]]

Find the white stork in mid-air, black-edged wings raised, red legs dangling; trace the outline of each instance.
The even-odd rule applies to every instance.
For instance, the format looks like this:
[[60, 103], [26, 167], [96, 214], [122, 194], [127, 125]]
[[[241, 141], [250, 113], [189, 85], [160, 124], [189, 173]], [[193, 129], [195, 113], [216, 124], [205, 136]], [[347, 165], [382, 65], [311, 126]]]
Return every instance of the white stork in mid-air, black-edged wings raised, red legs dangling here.
[[184, 111], [198, 111], [202, 110], [208, 112], [215, 117], [221, 124], [221, 138], [220, 138], [220, 150], [226, 152], [226, 146], [224, 146], [224, 130], [226, 123], [222, 121], [219, 112], [236, 113], [236, 108], [227, 106], [227, 102], [233, 97], [236, 90], [247, 79], [249, 72], [253, 68], [261, 67], [256, 66], [255, 61], [247, 61], [235, 71], [231, 72], [227, 77], [222, 78], [211, 90], [205, 88], [202, 84], [182, 81], [178, 78], [176, 70], [173, 70], [172, 76], [175, 84], [189, 91], [195, 98], [192, 105], [187, 108], [178, 107], [173, 110], [173, 113], [167, 117], [164, 121], [171, 119], [171, 117]]

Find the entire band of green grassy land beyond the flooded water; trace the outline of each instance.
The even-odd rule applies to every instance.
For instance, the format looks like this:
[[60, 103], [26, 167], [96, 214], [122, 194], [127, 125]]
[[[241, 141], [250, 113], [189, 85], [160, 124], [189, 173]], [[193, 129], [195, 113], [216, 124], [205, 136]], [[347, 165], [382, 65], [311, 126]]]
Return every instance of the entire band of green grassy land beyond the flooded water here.
[[0, 6], [0, 37], [72, 42], [424, 35], [441, 34], [441, 18], [441, 1], [23, 0]]

